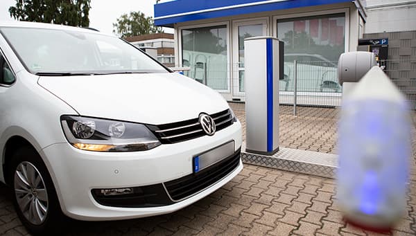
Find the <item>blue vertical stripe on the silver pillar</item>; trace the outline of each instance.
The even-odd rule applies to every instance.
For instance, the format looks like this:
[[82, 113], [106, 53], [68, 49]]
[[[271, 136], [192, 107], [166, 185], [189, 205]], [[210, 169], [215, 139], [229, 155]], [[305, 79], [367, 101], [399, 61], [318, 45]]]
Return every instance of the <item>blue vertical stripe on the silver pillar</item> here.
[[273, 151], [273, 42], [266, 39], [267, 66], [267, 152]]

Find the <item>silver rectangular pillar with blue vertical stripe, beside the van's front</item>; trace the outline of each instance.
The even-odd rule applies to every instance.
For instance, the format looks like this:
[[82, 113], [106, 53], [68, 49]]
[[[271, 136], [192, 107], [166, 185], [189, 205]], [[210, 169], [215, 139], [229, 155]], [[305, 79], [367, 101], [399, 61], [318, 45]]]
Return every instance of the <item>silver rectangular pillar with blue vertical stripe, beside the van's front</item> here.
[[284, 75], [284, 43], [275, 37], [244, 41], [245, 149], [272, 155], [279, 151], [279, 78]]

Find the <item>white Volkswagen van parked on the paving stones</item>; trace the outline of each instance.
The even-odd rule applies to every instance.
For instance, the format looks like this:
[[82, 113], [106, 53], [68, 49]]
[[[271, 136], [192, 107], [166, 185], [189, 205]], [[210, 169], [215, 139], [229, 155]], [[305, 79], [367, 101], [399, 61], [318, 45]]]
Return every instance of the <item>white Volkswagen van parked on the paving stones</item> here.
[[243, 168], [223, 97], [115, 36], [0, 22], [0, 69], [0, 181], [32, 233], [173, 212]]

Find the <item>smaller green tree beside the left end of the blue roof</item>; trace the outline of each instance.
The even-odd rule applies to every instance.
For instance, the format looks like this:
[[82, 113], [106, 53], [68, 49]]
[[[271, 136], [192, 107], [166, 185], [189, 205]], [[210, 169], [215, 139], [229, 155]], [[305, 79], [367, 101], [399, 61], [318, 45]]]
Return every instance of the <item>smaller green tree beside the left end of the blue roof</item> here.
[[146, 17], [144, 13], [139, 11], [121, 15], [117, 18], [117, 22], [113, 23], [113, 28], [115, 28], [113, 32], [121, 37], [163, 33], [161, 27], [155, 26], [152, 17]]

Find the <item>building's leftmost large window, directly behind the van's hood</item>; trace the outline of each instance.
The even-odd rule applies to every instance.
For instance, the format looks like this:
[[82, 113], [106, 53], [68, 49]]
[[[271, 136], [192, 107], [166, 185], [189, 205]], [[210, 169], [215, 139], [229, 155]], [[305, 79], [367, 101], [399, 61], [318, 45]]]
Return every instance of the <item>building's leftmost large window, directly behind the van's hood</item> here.
[[227, 26], [182, 30], [182, 66], [184, 73], [212, 89], [228, 89]]

